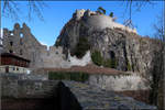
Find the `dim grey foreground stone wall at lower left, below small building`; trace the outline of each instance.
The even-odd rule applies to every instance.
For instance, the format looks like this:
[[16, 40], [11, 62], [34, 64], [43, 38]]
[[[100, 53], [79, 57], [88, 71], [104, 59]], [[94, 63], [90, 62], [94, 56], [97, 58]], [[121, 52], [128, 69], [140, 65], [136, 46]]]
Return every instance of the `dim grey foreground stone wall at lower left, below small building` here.
[[32, 80], [20, 74], [1, 74], [1, 96], [11, 98], [44, 98], [57, 81]]

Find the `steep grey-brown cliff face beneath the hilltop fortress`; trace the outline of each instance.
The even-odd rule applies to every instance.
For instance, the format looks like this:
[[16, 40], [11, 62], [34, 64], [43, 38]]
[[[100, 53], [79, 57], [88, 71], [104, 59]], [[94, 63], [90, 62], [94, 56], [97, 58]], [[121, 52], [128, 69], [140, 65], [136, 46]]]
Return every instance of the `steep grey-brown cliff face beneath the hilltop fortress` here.
[[[134, 31], [113, 26], [113, 24], [112, 28], [102, 26], [105, 23], [96, 21], [100, 15], [87, 15], [87, 12], [91, 13], [89, 10], [84, 14], [79, 14], [77, 11], [74, 13], [63, 28], [55, 45], [61, 45], [72, 53], [79, 37], [86, 37], [91, 46], [91, 52], [97, 50], [100, 51], [103, 58], [116, 59], [119, 70], [147, 73], [152, 69], [154, 52], [160, 50], [157, 41], [142, 37]], [[92, 19], [94, 16], [95, 19]], [[89, 19], [92, 19], [90, 20], [92, 23], [88, 21]], [[94, 23], [95, 21], [97, 25]]]

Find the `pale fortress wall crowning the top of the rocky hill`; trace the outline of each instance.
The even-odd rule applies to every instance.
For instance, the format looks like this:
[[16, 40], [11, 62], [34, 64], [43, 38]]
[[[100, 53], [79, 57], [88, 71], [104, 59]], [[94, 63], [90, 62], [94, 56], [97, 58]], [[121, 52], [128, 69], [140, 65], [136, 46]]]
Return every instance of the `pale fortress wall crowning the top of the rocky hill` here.
[[89, 9], [88, 10], [84, 10], [84, 9], [76, 10], [76, 13], [74, 13], [74, 14], [75, 14], [74, 18], [76, 20], [84, 19], [84, 21], [87, 23], [87, 25], [90, 25], [95, 29], [119, 28], [119, 29], [128, 31], [128, 32], [136, 33], [135, 29], [130, 29], [129, 26], [119, 24], [113, 21], [113, 18], [105, 15], [105, 14], [99, 14], [97, 12], [90, 11]]

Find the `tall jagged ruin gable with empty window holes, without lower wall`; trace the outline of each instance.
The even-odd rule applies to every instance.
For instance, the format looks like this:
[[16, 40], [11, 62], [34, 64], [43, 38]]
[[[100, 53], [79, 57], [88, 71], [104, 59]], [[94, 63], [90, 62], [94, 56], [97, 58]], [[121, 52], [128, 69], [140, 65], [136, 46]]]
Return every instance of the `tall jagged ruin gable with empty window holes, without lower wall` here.
[[43, 48], [44, 46], [32, 35], [30, 28], [25, 23], [23, 23], [23, 28], [15, 23], [12, 31], [3, 29], [4, 52], [30, 59], [30, 67], [35, 67]]

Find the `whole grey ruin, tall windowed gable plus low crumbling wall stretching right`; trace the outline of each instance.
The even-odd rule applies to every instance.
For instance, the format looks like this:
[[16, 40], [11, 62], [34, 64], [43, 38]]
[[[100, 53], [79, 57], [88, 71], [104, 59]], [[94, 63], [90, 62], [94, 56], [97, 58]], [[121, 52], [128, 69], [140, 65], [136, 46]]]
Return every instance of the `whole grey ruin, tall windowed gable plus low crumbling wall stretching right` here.
[[73, 65], [85, 66], [91, 59], [88, 52], [85, 58], [77, 59], [75, 56], [66, 56], [63, 54], [63, 47], [42, 45], [31, 33], [30, 28], [23, 23], [20, 28], [19, 23], [14, 24], [14, 29], [9, 31], [3, 29], [3, 52], [18, 55], [30, 59], [30, 68], [68, 68]]

